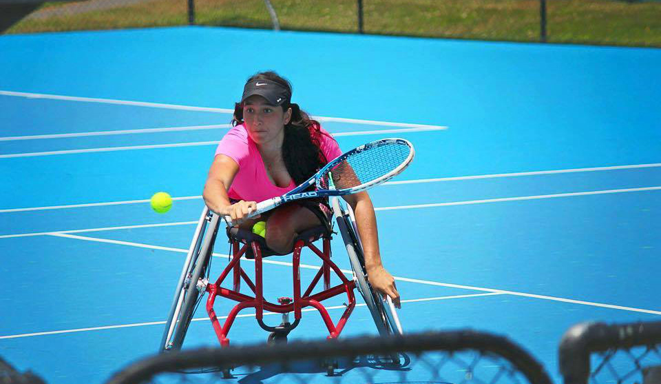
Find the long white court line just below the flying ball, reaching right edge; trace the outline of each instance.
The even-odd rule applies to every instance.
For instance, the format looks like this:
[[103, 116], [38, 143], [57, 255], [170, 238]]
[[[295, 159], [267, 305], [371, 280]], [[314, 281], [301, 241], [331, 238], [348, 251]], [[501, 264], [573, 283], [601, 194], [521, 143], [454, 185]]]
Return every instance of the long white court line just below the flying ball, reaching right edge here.
[[[499, 199], [452, 201], [450, 203], [399, 205], [399, 206], [395, 206], [395, 207], [377, 207], [374, 210], [375, 211], [410, 210], [410, 209], [418, 209], [418, 208], [446, 207], [446, 206], [450, 206], [450, 205], [471, 205], [471, 204], [485, 204], [485, 203], [501, 203], [501, 202], [504, 202], [504, 201], [524, 201], [524, 200], [535, 200], [535, 199], [553, 199], [553, 198], [571, 197], [571, 196], [591, 196], [591, 195], [596, 195], [596, 194], [644, 192], [644, 191], [652, 191], [652, 190], [661, 190], [661, 186], [658, 186], [658, 187], [644, 187], [644, 188], [626, 188], [626, 189], [622, 189], [622, 190], [602, 190], [602, 191], [589, 191], [589, 192], [542, 194], [542, 195], [538, 195], [538, 196], [503, 197], [503, 198], [499, 198]], [[32, 232], [32, 233], [23, 233], [23, 234], [3, 234], [3, 235], [0, 235], [0, 239], [8, 239], [8, 238], [11, 238], [11, 237], [41, 236], [41, 235], [48, 235], [48, 234], [54, 234], [54, 233], [94, 232], [94, 231], [105, 231], [105, 230], [127, 229], [127, 228], [148, 228], [148, 227], [158, 227], [158, 226], [167, 226], [167, 225], [184, 225], [184, 224], [193, 224], [193, 223], [197, 223], [197, 222], [196, 221], [185, 221], [185, 222], [178, 222], [178, 223], [143, 224], [143, 225], [127, 225], [127, 226], [124, 226], [124, 227], [94, 228], [94, 229], [90, 229], [90, 230], [58, 230], [58, 231]]]

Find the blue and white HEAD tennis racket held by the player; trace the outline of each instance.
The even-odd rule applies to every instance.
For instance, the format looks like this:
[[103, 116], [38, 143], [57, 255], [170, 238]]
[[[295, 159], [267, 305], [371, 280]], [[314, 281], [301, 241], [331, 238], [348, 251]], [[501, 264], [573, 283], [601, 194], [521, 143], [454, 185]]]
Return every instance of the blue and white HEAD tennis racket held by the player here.
[[[397, 176], [413, 160], [415, 150], [405, 139], [381, 139], [360, 145], [324, 165], [310, 179], [282, 196], [257, 204], [257, 209], [246, 218], [258, 216], [283, 203], [314, 197], [354, 194], [385, 183]], [[308, 190], [312, 186], [315, 190]], [[233, 225], [230, 216], [224, 217]]]

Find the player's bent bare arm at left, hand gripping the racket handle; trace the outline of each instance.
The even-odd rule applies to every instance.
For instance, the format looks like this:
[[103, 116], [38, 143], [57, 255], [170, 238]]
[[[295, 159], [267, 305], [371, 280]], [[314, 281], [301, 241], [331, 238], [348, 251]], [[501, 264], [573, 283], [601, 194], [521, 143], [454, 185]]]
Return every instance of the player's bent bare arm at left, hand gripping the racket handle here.
[[218, 154], [211, 163], [207, 183], [204, 184], [202, 192], [204, 203], [211, 211], [222, 216], [229, 215], [235, 223], [240, 223], [251, 210], [257, 209], [255, 201], [230, 203], [227, 190], [238, 172], [239, 165], [231, 157]]

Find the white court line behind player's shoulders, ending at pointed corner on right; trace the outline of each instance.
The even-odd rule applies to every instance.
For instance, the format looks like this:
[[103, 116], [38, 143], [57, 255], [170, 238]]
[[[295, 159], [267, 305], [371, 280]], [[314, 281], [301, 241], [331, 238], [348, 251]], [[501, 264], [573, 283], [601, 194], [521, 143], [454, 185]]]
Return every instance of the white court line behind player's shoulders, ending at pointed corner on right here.
[[[333, 136], [357, 136], [361, 134], [380, 134], [380, 133], [397, 133], [397, 132], [423, 132], [431, 130], [444, 130], [445, 127], [438, 128], [399, 128], [394, 130], [375, 130], [375, 131], [354, 131], [354, 132], [339, 132]], [[91, 152], [115, 152], [127, 150], [152, 150], [155, 148], [180, 148], [180, 147], [195, 147], [200, 145], [216, 145], [220, 140], [214, 141], [193, 141], [189, 143], [169, 143], [169, 144], [151, 144], [151, 145], [127, 145], [123, 147], [103, 147], [103, 148], [84, 148], [81, 150], [58, 150], [58, 151], [45, 151], [45, 152], [25, 152], [25, 153], [12, 153], [0, 154], [0, 159], [12, 159], [16, 157], [34, 157], [34, 156], [52, 156], [54, 154], [78, 154], [78, 153], [91, 153]]]

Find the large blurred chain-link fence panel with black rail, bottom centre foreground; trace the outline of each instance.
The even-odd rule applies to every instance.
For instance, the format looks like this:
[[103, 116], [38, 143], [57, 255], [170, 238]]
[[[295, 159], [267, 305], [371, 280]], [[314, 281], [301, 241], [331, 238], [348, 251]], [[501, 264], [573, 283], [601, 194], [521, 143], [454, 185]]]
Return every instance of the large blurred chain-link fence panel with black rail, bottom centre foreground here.
[[[224, 379], [221, 380], [221, 379]], [[535, 383], [551, 384], [535, 358], [501, 336], [428, 332], [191, 350], [119, 372], [128, 383]]]

